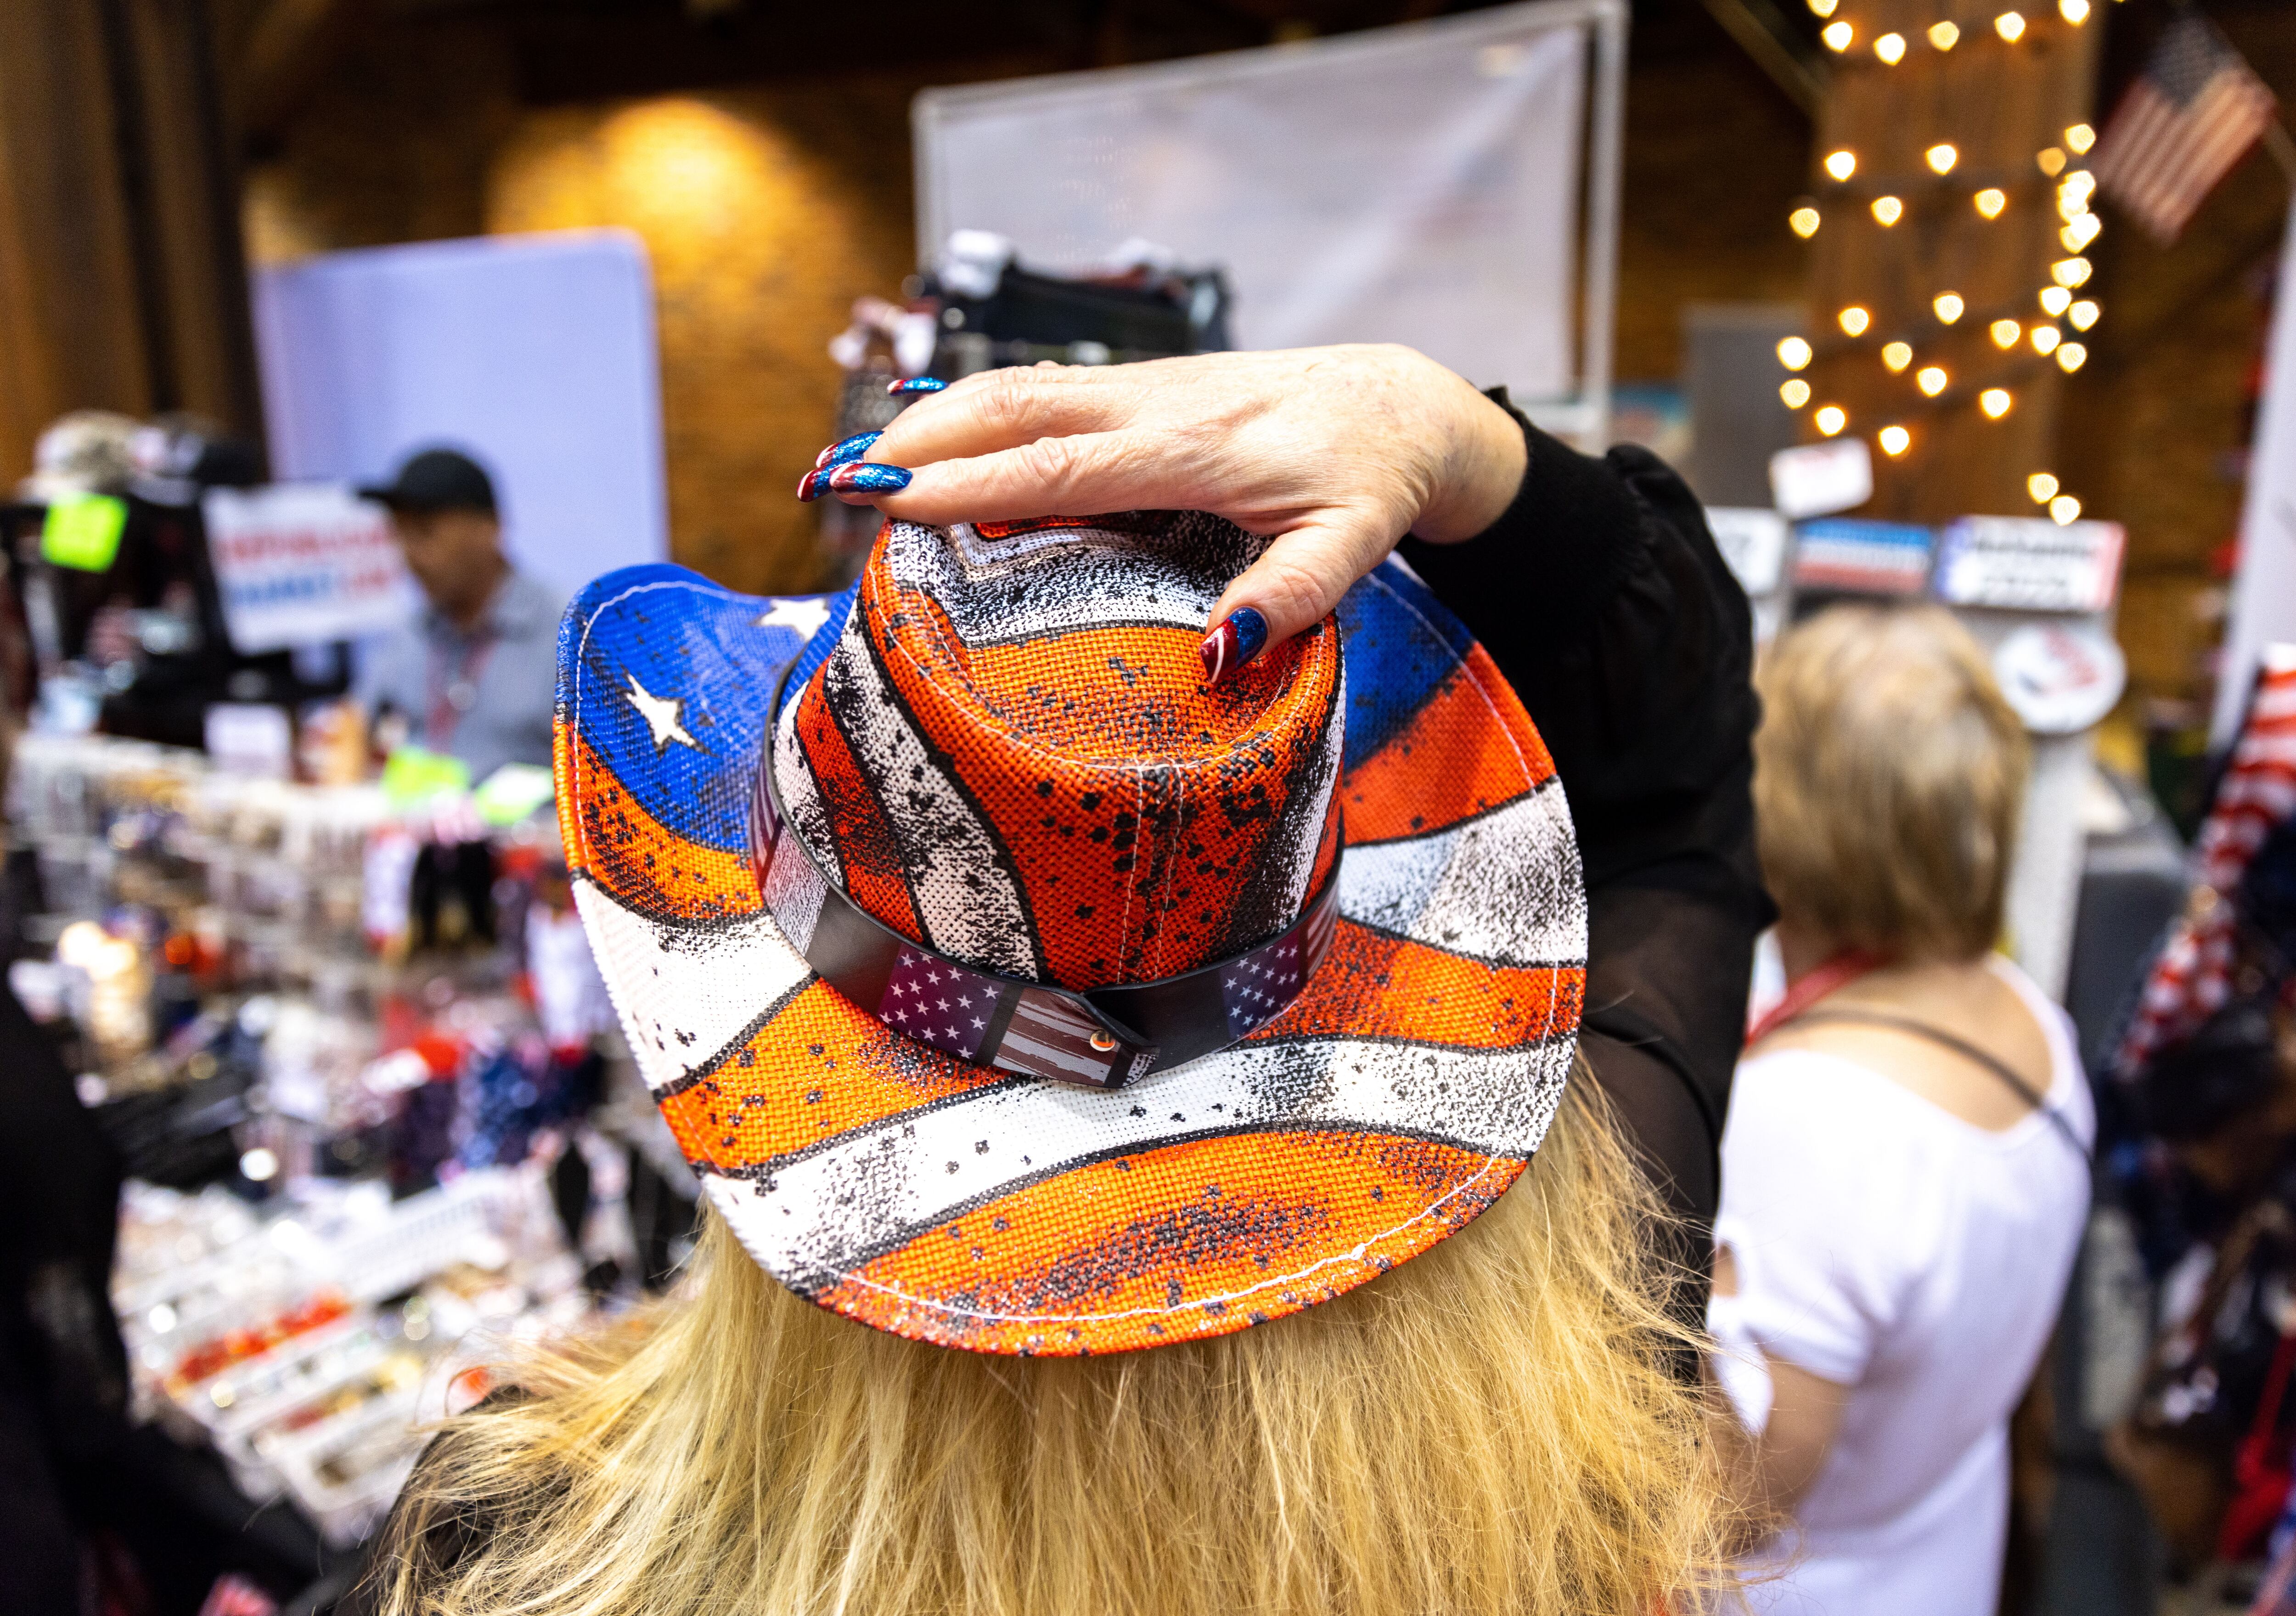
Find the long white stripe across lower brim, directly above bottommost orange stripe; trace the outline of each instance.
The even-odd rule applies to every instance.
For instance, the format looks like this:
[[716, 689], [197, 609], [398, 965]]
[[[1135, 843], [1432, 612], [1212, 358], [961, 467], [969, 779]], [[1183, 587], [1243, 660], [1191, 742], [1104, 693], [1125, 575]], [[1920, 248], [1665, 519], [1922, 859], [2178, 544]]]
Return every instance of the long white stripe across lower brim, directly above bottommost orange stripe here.
[[758, 1180], [705, 1182], [751, 1256], [792, 1290], [813, 1292], [969, 1205], [1203, 1134], [1341, 1127], [1527, 1157], [1561, 1104], [1570, 1049], [1568, 1038], [1497, 1051], [1244, 1044], [1107, 1093], [999, 1083], [854, 1129]]

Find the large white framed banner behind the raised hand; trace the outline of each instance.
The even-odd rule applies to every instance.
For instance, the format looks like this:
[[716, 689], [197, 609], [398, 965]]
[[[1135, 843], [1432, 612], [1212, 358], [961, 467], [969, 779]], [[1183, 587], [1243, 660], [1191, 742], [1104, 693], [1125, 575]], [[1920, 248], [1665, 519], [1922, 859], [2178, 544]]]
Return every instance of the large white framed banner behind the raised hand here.
[[[1079, 271], [1143, 239], [1228, 271], [1238, 347], [1407, 342], [1476, 383], [1561, 399], [1582, 386], [1587, 41], [1623, 30], [1612, 11], [1525, 5], [925, 92], [918, 246], [992, 230], [1024, 266]], [[1598, 119], [1598, 156], [1607, 138]], [[1589, 220], [1589, 390], [1607, 386], [1614, 184], [1598, 174]]]

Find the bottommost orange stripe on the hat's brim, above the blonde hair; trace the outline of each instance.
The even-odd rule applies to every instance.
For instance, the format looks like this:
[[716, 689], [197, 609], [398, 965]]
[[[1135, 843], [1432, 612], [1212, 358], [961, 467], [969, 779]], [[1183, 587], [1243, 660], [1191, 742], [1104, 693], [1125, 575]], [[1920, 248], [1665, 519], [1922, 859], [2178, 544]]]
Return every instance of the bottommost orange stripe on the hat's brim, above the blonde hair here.
[[1515, 1157], [1396, 1134], [1189, 1139], [999, 1196], [815, 1302], [980, 1352], [1130, 1352], [1224, 1336], [1417, 1256], [1520, 1171]]

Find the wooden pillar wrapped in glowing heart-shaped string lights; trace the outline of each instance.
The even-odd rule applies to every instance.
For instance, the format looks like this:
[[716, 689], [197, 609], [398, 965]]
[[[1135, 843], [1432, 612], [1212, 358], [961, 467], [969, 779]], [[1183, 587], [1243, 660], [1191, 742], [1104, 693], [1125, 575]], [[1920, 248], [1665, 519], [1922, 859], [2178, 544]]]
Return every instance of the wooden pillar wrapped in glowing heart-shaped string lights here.
[[[2060, 202], [2066, 177], [2085, 168], [2073, 147], [2092, 122], [2108, 5], [1839, 0], [1830, 14], [1848, 44], [1835, 55], [1814, 152], [1821, 225], [1802, 422], [1816, 441], [1821, 411], [1837, 406], [1844, 429], [1874, 445], [1874, 500], [1857, 514], [1945, 521], [2043, 510], [2027, 480], [2055, 471], [2062, 360], [2076, 354], [2039, 351], [2034, 328], [2053, 333], [2041, 344], [2082, 344], [2041, 292], [2057, 285], [2057, 264], [2082, 257], [2062, 234]], [[1940, 147], [1952, 149], [1949, 165]], [[1839, 154], [1855, 161], [1846, 177]], [[1991, 218], [1984, 193], [2000, 193]], [[1896, 223], [1885, 223], [1892, 200]], [[1952, 321], [1938, 308], [1945, 294], [1961, 301]], [[1855, 312], [1846, 326], [1844, 310], [1862, 310], [1862, 328]], [[1998, 321], [2016, 321], [2009, 347], [1995, 340]], [[2009, 337], [2007, 324], [1998, 331]], [[1894, 372], [1890, 344], [1906, 344], [1899, 356], [1910, 349]], [[1936, 397], [1922, 388], [1933, 370], [1945, 372]], [[2000, 418], [1984, 409], [1988, 393], [1995, 404], [2007, 395]], [[1896, 438], [1885, 441], [1887, 427], [1903, 429], [1903, 452], [1887, 452]]]

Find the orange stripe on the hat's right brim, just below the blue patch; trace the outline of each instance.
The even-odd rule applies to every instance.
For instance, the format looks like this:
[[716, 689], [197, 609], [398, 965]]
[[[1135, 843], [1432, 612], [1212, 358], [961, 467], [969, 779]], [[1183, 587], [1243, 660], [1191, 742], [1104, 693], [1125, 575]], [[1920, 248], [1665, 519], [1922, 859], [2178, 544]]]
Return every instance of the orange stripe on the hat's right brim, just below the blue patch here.
[[1387, 746], [1339, 783], [1350, 842], [1426, 836], [1522, 797], [1554, 758], [1490, 652], [1469, 645], [1460, 673], [1428, 696]]

